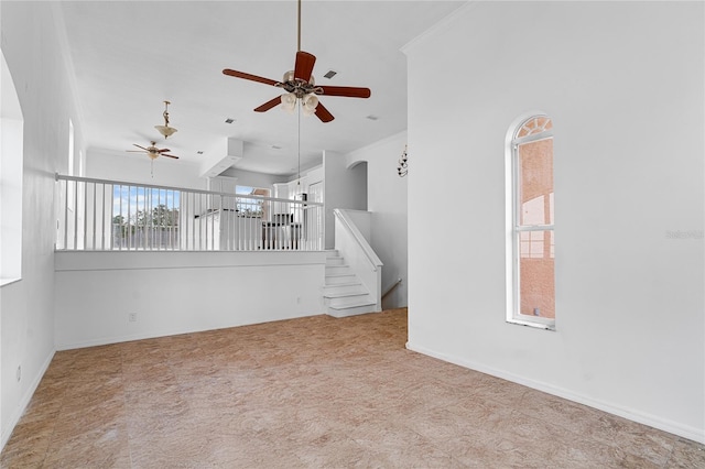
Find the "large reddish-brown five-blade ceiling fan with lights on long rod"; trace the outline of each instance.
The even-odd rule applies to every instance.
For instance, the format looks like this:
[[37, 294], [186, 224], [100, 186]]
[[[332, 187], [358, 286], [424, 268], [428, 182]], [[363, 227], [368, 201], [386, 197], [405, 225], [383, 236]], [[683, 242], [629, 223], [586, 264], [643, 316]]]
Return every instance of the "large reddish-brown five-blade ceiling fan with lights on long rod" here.
[[296, 102], [301, 100], [301, 110], [304, 114], [311, 116], [315, 113], [322, 122], [330, 122], [334, 117], [321, 102], [318, 102], [317, 96], [369, 98], [371, 94], [370, 89], [347, 86], [316, 86], [312, 75], [316, 57], [315, 55], [301, 50], [301, 0], [299, 0], [297, 26], [299, 48], [296, 52], [296, 62], [294, 69], [286, 72], [282, 81], [247, 74], [245, 72], [232, 70], [230, 68], [224, 69], [223, 73], [231, 77], [249, 79], [251, 81], [283, 88], [286, 91], [285, 95], [278, 96], [254, 108], [256, 112], [269, 111], [278, 105], [282, 105], [284, 110], [293, 112], [296, 107]]

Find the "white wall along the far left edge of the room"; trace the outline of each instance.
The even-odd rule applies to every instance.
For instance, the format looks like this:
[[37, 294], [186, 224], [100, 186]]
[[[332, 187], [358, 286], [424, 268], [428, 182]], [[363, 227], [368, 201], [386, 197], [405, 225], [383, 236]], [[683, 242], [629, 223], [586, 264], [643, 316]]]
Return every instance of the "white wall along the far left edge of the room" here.
[[24, 117], [22, 280], [0, 290], [4, 444], [54, 353], [54, 173], [67, 168], [69, 119], [77, 151], [83, 137], [55, 6], [0, 2], [0, 46]]

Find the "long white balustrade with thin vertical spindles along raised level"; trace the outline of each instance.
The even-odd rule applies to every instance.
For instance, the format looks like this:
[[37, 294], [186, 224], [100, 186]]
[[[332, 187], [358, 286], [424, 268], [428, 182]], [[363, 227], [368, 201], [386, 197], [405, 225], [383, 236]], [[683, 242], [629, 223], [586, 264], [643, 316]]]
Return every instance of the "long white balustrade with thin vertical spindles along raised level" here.
[[323, 249], [323, 204], [56, 175], [56, 249]]

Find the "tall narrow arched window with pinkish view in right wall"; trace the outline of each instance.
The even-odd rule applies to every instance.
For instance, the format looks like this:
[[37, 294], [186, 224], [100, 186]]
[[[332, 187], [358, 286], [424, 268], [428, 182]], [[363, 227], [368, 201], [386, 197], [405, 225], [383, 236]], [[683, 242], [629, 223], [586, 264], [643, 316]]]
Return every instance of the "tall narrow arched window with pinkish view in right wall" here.
[[507, 320], [555, 329], [553, 122], [533, 114], [510, 132]]

